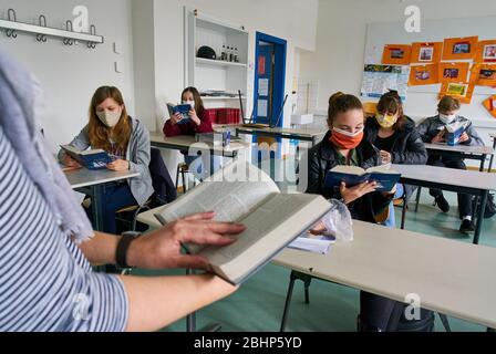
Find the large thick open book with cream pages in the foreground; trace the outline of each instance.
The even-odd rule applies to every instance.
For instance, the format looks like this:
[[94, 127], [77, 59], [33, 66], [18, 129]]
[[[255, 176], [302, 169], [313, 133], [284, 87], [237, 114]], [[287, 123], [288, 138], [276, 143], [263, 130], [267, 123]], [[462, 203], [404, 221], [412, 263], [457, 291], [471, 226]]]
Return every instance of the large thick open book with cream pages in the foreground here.
[[192, 214], [215, 211], [217, 221], [245, 225], [247, 230], [232, 244], [186, 246], [190, 253], [207, 258], [217, 275], [240, 284], [330, 209], [331, 204], [321, 196], [281, 194], [269, 176], [238, 160], [166, 206], [156, 218], [166, 225]]

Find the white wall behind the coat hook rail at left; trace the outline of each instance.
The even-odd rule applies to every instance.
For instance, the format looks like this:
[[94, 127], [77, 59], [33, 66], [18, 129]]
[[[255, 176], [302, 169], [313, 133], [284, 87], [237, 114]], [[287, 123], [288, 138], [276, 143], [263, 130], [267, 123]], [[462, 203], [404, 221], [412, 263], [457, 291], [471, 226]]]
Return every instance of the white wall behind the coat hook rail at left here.
[[[41, 81], [45, 91], [48, 115], [42, 122], [46, 137], [56, 146], [69, 143], [87, 123], [91, 96], [101, 85], [118, 86], [127, 108], [134, 114], [133, 43], [130, 0], [0, 0], [2, 19], [7, 10], [17, 11], [18, 21], [35, 23], [44, 14], [49, 27], [63, 29], [73, 19], [75, 6], [84, 4], [90, 11], [90, 23], [103, 35], [105, 43], [95, 50], [84, 44], [64, 46], [61, 40], [49, 39], [38, 43], [34, 35], [19, 34], [16, 40], [0, 34], [0, 48], [17, 58]], [[122, 54], [113, 51], [117, 42]], [[122, 74], [114, 70], [118, 60]], [[151, 123], [153, 125], [153, 122]]]

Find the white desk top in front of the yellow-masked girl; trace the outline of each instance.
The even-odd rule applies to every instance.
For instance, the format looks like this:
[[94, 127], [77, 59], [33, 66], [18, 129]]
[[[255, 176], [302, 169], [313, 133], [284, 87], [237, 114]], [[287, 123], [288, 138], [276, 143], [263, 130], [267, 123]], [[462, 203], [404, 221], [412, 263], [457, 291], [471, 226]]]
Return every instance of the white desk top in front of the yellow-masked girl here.
[[425, 165], [393, 165], [391, 168], [405, 178], [447, 186], [496, 190], [496, 178], [493, 174]]

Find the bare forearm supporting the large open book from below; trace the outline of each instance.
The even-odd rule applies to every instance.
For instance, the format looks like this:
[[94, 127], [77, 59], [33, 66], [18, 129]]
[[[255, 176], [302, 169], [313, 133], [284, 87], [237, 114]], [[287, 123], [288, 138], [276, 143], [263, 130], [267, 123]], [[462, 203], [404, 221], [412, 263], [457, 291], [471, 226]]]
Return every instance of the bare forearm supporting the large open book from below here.
[[236, 290], [214, 275], [121, 279], [130, 302], [126, 332], [158, 331]]

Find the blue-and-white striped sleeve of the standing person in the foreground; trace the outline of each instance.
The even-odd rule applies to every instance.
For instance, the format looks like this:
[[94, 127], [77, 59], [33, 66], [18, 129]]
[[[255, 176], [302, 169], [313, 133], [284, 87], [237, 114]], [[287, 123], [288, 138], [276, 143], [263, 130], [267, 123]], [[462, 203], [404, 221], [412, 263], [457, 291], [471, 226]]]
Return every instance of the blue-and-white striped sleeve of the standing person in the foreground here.
[[121, 332], [121, 280], [92, 272], [0, 127], [0, 332]]

